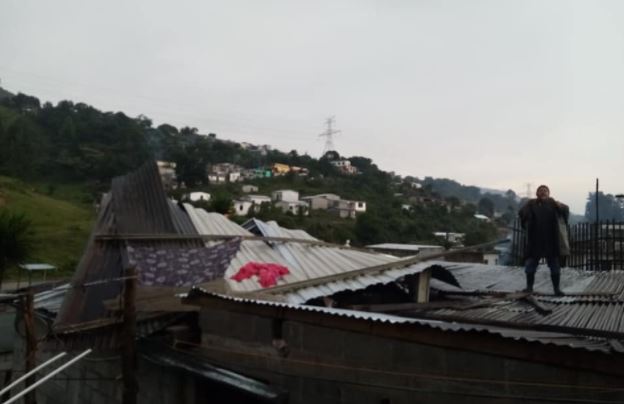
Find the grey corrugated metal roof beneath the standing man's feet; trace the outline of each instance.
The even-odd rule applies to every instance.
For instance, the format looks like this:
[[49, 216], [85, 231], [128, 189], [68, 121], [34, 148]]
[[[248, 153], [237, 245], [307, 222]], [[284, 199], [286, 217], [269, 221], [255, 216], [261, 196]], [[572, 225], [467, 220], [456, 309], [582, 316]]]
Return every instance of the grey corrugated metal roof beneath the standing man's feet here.
[[[464, 289], [485, 292], [514, 292], [525, 285], [522, 268], [482, 264], [449, 264], [446, 266]], [[472, 321], [552, 325], [624, 334], [624, 271], [589, 272], [564, 268], [563, 290], [569, 295], [555, 297], [548, 268], [536, 274], [534, 296], [552, 312], [543, 314], [522, 300], [496, 300], [486, 307], [444, 308], [427, 310], [427, 316]], [[483, 297], [473, 298], [475, 300]], [[468, 305], [467, 305], [468, 306]], [[405, 313], [407, 315], [407, 313]]]

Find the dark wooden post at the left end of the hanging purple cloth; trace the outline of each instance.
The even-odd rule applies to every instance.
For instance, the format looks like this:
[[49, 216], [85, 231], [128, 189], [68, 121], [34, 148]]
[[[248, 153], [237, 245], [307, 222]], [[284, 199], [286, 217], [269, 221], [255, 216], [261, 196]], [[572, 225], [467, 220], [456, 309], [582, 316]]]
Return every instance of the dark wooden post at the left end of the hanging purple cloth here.
[[123, 404], [136, 404], [138, 383], [136, 380], [136, 270], [126, 270], [124, 281], [123, 323], [121, 340], [121, 375], [123, 379]]

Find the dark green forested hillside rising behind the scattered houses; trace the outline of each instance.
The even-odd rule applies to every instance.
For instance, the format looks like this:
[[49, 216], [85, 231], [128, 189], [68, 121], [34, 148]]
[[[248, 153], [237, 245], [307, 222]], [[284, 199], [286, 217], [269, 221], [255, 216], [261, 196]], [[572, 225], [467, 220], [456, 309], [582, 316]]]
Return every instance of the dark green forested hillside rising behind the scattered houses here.
[[[307, 178], [283, 178], [280, 181], [286, 182], [279, 185], [302, 193], [336, 192], [368, 203], [368, 212], [345, 225], [344, 231], [335, 230], [334, 224], [328, 225], [331, 231], [319, 229], [319, 220], [299, 224], [337, 242], [347, 238], [360, 244], [418, 242], [430, 240], [433, 231], [473, 232], [474, 240], [481, 241], [494, 237], [496, 227], [479, 223], [473, 215], [480, 212], [493, 217], [498, 211], [503, 214], [499, 224], [509, 222], [518, 202], [513, 193], [481, 195], [478, 189], [475, 192], [474, 187], [452, 180], [400, 178], [365, 157], [349, 158], [361, 172], [349, 176], [340, 174], [327, 158], [296, 151], [258, 153], [215, 134], [200, 135], [195, 128], [154, 127], [145, 116], [102, 112], [72, 101], [41, 103], [24, 94], [0, 99], [1, 175], [38, 183], [85, 184], [95, 197], [108, 188], [112, 177], [152, 158], [175, 161], [178, 178], [188, 188], [209, 187], [205, 168], [211, 163], [256, 168], [279, 162], [305, 167]], [[414, 209], [405, 211], [406, 204]]]

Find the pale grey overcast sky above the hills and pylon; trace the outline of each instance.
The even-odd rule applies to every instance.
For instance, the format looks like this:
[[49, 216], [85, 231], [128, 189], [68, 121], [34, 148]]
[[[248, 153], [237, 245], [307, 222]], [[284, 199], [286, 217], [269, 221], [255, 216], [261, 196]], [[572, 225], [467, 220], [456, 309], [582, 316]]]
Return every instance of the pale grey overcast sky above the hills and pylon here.
[[401, 175], [624, 192], [621, 1], [2, 0], [0, 85]]

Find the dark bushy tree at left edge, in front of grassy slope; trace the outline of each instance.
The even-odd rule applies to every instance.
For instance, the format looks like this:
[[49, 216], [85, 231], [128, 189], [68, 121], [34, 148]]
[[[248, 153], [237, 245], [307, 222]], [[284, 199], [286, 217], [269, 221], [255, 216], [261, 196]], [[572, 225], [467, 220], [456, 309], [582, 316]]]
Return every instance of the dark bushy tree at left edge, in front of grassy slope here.
[[0, 288], [6, 269], [26, 259], [31, 250], [30, 220], [23, 214], [0, 209]]

